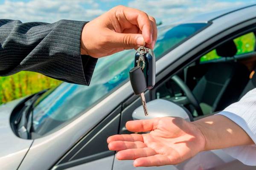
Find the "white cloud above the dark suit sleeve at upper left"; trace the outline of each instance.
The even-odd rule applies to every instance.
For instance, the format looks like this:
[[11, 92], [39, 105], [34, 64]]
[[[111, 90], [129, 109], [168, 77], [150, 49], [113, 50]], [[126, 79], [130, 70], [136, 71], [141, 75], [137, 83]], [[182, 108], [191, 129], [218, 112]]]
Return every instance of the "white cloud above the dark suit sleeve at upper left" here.
[[[84, 8], [88, 6], [89, 9]], [[5, 0], [0, 5], [1, 18], [23, 22], [55, 22], [61, 19], [92, 20], [105, 11], [94, 0], [31, 0], [28, 2]]]

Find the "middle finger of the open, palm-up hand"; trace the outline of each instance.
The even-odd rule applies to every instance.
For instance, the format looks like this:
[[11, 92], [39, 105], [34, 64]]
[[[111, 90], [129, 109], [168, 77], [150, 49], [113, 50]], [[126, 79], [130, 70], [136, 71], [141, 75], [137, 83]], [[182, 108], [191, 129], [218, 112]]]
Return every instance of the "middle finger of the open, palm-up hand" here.
[[126, 150], [147, 147], [143, 142], [127, 142], [127, 141], [113, 141], [108, 144], [109, 150]]

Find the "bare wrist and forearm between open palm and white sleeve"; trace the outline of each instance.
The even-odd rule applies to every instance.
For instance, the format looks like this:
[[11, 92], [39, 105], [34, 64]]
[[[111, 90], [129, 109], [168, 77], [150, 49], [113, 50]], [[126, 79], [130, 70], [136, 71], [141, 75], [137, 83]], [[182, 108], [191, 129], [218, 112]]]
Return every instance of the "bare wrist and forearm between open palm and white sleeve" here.
[[226, 116], [207, 116], [192, 123], [198, 127], [204, 136], [204, 150], [253, 144], [250, 136]]

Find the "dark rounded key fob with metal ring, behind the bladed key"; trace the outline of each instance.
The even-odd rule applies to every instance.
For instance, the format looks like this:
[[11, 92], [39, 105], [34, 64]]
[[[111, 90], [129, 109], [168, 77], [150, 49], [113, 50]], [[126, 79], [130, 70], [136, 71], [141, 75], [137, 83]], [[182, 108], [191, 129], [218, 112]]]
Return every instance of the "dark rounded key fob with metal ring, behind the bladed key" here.
[[144, 46], [138, 48], [134, 58], [134, 67], [138, 65], [143, 68], [147, 89], [153, 88], [156, 77], [156, 59], [153, 50], [145, 48]]

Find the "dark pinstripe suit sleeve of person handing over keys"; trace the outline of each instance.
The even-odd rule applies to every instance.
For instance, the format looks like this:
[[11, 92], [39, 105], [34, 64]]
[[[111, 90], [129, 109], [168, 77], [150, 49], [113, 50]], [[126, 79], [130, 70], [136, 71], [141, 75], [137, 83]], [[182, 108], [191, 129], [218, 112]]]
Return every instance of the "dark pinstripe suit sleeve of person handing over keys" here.
[[66, 82], [89, 85], [97, 59], [81, 56], [86, 22], [21, 23], [0, 20], [0, 76], [35, 71]]

